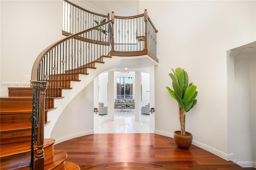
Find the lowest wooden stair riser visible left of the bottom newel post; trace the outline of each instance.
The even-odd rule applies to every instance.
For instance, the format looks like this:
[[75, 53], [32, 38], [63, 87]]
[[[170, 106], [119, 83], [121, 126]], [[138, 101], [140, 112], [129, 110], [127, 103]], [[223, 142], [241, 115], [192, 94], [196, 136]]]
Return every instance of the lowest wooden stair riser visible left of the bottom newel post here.
[[[34, 158], [36, 157], [36, 150], [37, 148], [34, 147]], [[53, 150], [53, 145], [44, 148], [45, 160], [49, 159], [53, 155]], [[20, 154], [3, 157], [1, 158], [0, 163], [1, 170], [13, 170], [17, 168], [22, 168], [24, 166], [29, 166], [30, 156], [30, 151], [28, 151]]]

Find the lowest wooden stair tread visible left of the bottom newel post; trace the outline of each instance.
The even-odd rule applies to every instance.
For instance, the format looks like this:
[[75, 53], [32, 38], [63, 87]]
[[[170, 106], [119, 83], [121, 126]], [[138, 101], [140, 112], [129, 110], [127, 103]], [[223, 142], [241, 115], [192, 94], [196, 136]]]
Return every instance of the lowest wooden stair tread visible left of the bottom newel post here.
[[[55, 139], [44, 139], [44, 147], [53, 145], [55, 143]], [[23, 143], [14, 143], [10, 145], [2, 145], [0, 158], [4, 156], [10, 156], [22, 152], [30, 152], [31, 142], [23, 142]], [[36, 143], [34, 144], [34, 150], [37, 150]]]

